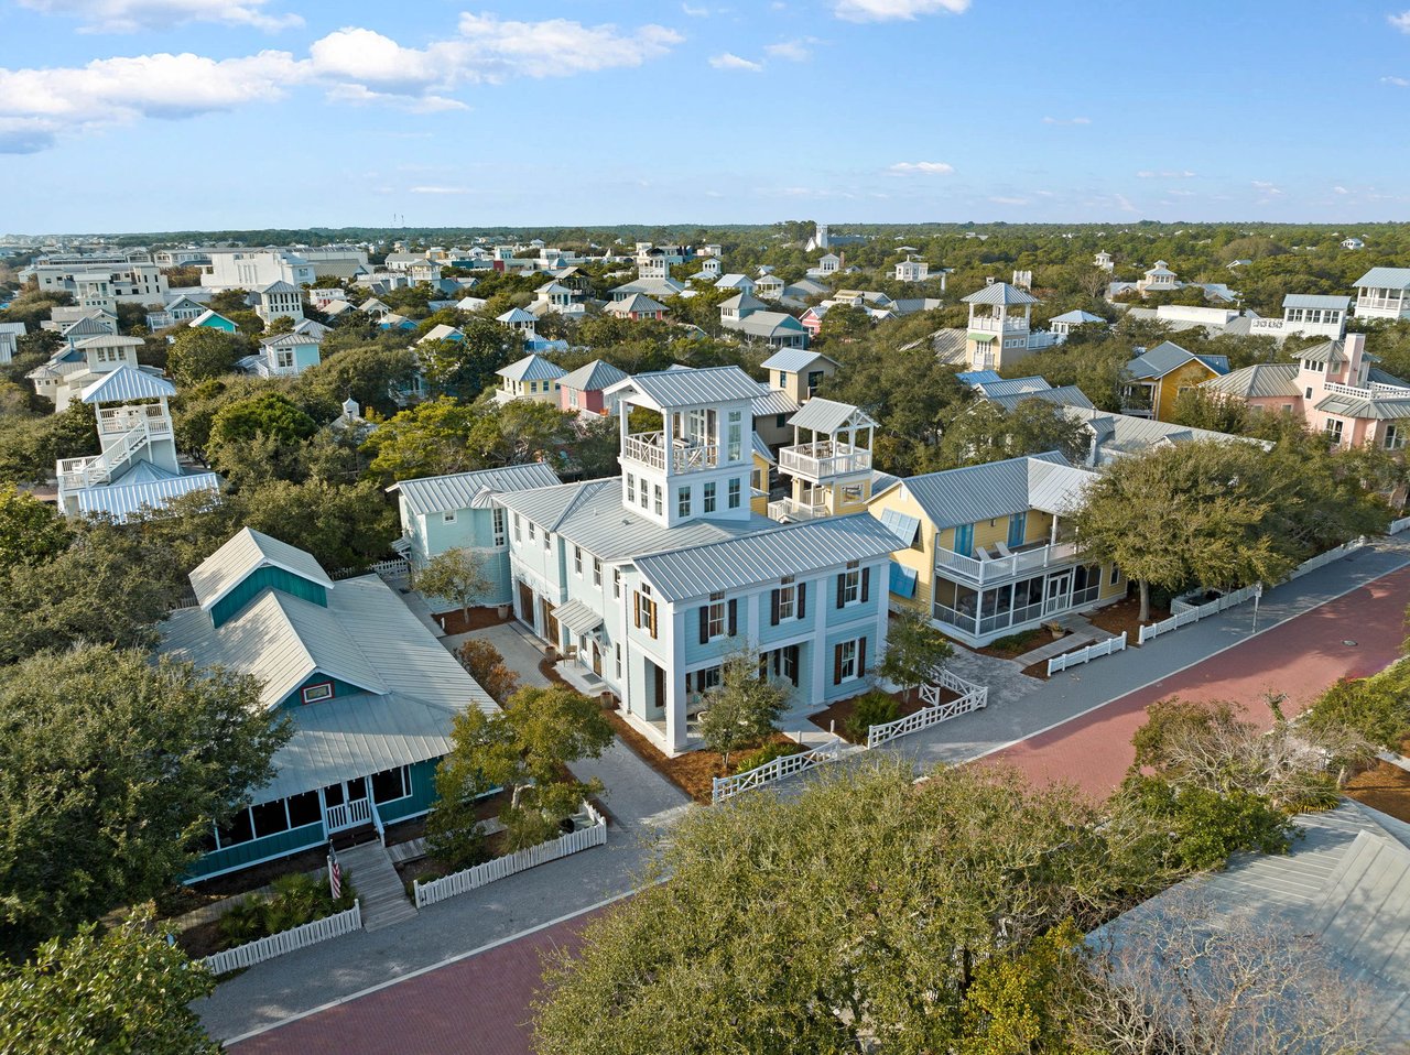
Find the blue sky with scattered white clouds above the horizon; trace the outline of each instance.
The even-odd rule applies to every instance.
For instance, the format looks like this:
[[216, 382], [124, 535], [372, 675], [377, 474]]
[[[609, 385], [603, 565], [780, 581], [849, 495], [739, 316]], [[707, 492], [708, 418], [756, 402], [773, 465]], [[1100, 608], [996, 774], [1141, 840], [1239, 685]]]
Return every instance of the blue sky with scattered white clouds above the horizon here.
[[1407, 4], [0, 0], [0, 231], [1403, 220]]

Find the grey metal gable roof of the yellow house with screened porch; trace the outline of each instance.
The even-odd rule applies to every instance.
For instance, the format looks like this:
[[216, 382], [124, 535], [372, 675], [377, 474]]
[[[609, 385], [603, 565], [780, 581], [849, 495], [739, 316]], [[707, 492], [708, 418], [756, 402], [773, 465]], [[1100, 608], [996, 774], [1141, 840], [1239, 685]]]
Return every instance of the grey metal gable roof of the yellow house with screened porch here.
[[[1028, 509], [1069, 513], [1096, 478], [1094, 472], [1069, 465], [1058, 451], [1048, 451], [926, 472], [901, 480], [894, 487], [905, 488], [931, 523], [943, 530]], [[871, 502], [890, 489], [873, 495]]]

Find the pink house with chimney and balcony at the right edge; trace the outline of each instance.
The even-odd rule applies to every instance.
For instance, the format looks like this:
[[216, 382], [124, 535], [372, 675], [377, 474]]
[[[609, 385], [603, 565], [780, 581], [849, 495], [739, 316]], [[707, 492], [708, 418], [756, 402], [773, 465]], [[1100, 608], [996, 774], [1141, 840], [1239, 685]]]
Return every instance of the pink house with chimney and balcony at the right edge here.
[[1365, 348], [1365, 334], [1351, 333], [1304, 348], [1297, 362], [1245, 367], [1203, 388], [1252, 410], [1297, 415], [1344, 447], [1402, 450], [1410, 434], [1410, 384], [1372, 367]]

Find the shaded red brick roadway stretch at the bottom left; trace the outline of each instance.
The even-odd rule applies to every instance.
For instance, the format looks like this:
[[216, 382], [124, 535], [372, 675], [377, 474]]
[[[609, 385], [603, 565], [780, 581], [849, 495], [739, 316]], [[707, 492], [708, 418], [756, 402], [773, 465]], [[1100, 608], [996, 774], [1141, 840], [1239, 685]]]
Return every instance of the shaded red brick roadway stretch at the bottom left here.
[[577, 951], [598, 911], [228, 1045], [235, 1055], [530, 1055], [530, 1003], [543, 956]]

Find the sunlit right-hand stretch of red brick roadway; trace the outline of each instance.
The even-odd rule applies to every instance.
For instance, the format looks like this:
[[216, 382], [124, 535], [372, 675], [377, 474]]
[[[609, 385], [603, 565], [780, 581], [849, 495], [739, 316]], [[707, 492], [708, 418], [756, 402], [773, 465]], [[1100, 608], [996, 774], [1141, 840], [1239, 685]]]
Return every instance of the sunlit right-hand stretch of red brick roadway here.
[[[990, 757], [1035, 781], [1062, 780], [1104, 798], [1131, 764], [1131, 735], [1149, 704], [1172, 695], [1232, 700], [1249, 718], [1272, 725], [1265, 693], [1285, 693], [1283, 712], [1292, 715], [1338, 678], [1389, 666], [1406, 636], [1407, 601], [1410, 568], [1403, 568]], [[1239, 611], [1252, 625], [1252, 611]]]

